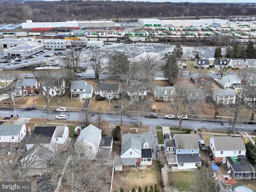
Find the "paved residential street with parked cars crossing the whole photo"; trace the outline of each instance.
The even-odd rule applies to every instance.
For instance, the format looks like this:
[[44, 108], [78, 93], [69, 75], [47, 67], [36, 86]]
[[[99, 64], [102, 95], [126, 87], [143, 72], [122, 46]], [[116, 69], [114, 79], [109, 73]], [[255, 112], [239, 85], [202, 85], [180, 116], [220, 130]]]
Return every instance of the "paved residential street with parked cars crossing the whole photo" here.
[[[16, 108], [16, 114], [18, 114], [19, 117], [24, 118], [47, 118], [46, 110], [43, 109], [37, 109], [37, 110], [24, 110], [23, 108]], [[56, 112], [55, 110], [51, 111], [51, 118], [54, 119], [59, 114], [70, 114], [68, 117], [69, 120], [78, 120], [80, 116], [80, 112], [65, 112], [60, 113]], [[0, 116], [2, 117], [10, 117], [11, 115], [14, 116], [14, 109], [11, 108], [1, 108], [0, 109]], [[96, 120], [96, 114], [91, 114], [91, 120]], [[114, 114], [103, 114], [103, 117], [110, 123], [120, 124], [121, 117]], [[68, 119], [67, 119], [68, 120]], [[164, 117], [158, 117], [158, 118], [145, 118], [141, 117], [141, 120], [143, 125], [148, 126], [166, 126], [166, 127], [178, 127], [179, 121], [178, 120], [172, 120], [172, 119], [165, 119]], [[61, 122], [61, 121], [60, 121]], [[133, 124], [136, 125], [137, 119], [135, 116], [132, 115], [122, 115], [122, 123], [123, 124]], [[232, 123], [232, 122], [231, 122]], [[182, 122], [182, 126], [186, 128], [191, 129], [208, 129], [208, 130], [229, 130], [229, 121], [228, 120], [198, 120], [198, 119], [189, 119], [184, 120]], [[232, 127], [232, 124], [230, 128]], [[256, 129], [255, 125], [252, 124], [236, 124], [235, 131], [241, 131], [241, 132], [254, 132]]]

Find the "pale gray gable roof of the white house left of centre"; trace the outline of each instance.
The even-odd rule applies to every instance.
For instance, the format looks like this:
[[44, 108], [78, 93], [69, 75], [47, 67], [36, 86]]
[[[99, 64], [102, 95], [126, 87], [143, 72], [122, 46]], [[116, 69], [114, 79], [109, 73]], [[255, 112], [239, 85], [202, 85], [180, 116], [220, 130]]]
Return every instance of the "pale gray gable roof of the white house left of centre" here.
[[78, 136], [78, 139], [87, 140], [94, 145], [98, 145], [98, 141], [101, 137], [101, 132], [102, 130], [90, 124], [86, 128], [81, 130], [80, 135]]

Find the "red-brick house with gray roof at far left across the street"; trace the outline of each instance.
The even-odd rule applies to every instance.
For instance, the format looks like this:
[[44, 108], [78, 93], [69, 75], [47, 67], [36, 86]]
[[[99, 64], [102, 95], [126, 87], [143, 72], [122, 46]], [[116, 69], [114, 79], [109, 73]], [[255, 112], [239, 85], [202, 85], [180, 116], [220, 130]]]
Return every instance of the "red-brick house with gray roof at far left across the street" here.
[[40, 90], [40, 84], [36, 78], [18, 79], [14, 94], [17, 96], [34, 94]]

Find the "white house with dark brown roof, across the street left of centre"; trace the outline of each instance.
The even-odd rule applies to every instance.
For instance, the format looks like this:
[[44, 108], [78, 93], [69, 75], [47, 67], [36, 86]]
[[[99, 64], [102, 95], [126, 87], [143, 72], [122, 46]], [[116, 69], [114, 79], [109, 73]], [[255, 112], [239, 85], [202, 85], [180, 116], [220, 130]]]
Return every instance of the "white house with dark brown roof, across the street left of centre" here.
[[95, 91], [96, 95], [106, 97], [107, 99], [118, 99], [120, 94], [119, 84], [99, 84]]

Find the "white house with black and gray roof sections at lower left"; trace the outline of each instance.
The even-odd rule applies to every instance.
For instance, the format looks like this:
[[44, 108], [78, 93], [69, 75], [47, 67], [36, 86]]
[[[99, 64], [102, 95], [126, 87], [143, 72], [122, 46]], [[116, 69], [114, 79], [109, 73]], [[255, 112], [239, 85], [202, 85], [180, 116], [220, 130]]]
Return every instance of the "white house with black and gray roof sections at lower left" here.
[[36, 126], [26, 144], [29, 150], [35, 144], [41, 145], [52, 152], [66, 150], [70, 143], [67, 126]]

